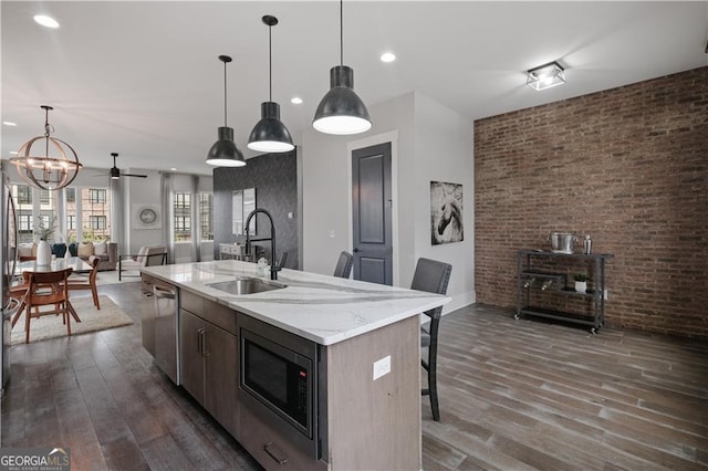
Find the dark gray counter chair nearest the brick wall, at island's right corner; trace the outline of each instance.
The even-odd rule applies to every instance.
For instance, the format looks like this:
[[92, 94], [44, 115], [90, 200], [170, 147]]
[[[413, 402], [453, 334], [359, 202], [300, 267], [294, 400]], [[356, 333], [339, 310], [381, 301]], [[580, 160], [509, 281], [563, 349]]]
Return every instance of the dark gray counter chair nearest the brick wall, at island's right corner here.
[[[416, 271], [410, 283], [412, 290], [427, 291], [428, 293], [446, 294], [450, 281], [452, 265], [430, 259], [418, 259]], [[420, 347], [428, 349], [427, 359], [420, 358], [420, 366], [428, 373], [428, 387], [420, 389], [423, 396], [430, 396], [433, 420], [440, 421], [440, 406], [438, 404], [437, 360], [438, 360], [438, 331], [442, 306], [435, 307], [424, 313], [430, 317], [430, 322], [420, 326]]]

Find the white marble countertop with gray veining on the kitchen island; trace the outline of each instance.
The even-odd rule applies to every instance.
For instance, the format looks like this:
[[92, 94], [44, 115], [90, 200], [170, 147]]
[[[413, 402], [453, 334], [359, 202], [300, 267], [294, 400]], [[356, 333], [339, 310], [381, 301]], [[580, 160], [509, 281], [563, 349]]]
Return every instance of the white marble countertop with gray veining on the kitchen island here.
[[288, 269], [278, 273], [278, 282], [287, 285], [282, 290], [237, 296], [207, 285], [236, 276], [257, 276], [254, 263], [236, 260], [146, 266], [142, 272], [321, 345], [365, 334], [451, 301], [439, 294]]

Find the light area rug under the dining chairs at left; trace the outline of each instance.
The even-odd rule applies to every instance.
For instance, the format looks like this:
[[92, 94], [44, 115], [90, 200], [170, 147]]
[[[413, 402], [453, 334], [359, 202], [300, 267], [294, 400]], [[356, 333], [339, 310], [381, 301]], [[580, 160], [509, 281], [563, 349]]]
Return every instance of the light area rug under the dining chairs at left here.
[[[75, 322], [72, 317], [72, 336], [133, 324], [133, 320], [108, 296], [100, 295], [98, 301], [101, 303], [100, 311], [94, 307], [91, 296], [71, 297], [71, 304], [81, 318], [81, 322]], [[61, 316], [45, 315], [33, 318], [30, 323], [30, 343], [64, 336], [66, 336], [66, 326], [62, 323]], [[12, 328], [12, 345], [23, 343], [24, 313]]]

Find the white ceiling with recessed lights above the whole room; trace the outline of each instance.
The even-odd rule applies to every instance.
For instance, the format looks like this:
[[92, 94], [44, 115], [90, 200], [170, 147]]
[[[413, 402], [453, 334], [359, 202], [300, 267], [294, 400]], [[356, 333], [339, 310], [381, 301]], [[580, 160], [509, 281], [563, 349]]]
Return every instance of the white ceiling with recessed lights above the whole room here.
[[[228, 124], [248, 156], [248, 135], [268, 100], [296, 144], [339, 64], [339, 1], [2, 1], [0, 156], [43, 134], [40, 105], [54, 106], [55, 137], [88, 167], [210, 175], [207, 150]], [[38, 25], [45, 13], [61, 24]], [[708, 65], [708, 1], [344, 2], [344, 63], [368, 105], [420, 92], [477, 119]], [[393, 51], [397, 60], [378, 57]], [[524, 71], [559, 61], [568, 84], [543, 92]], [[304, 101], [293, 105], [294, 95]], [[375, 121], [375, 114], [372, 116]]]

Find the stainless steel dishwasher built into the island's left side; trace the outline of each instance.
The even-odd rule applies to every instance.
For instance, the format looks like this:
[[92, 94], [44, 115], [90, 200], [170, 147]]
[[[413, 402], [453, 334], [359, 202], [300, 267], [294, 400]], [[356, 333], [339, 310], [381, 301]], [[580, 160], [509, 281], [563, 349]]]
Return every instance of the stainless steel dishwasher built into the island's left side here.
[[179, 306], [177, 287], [155, 280], [153, 300], [155, 313], [155, 363], [176, 385], [179, 375]]

